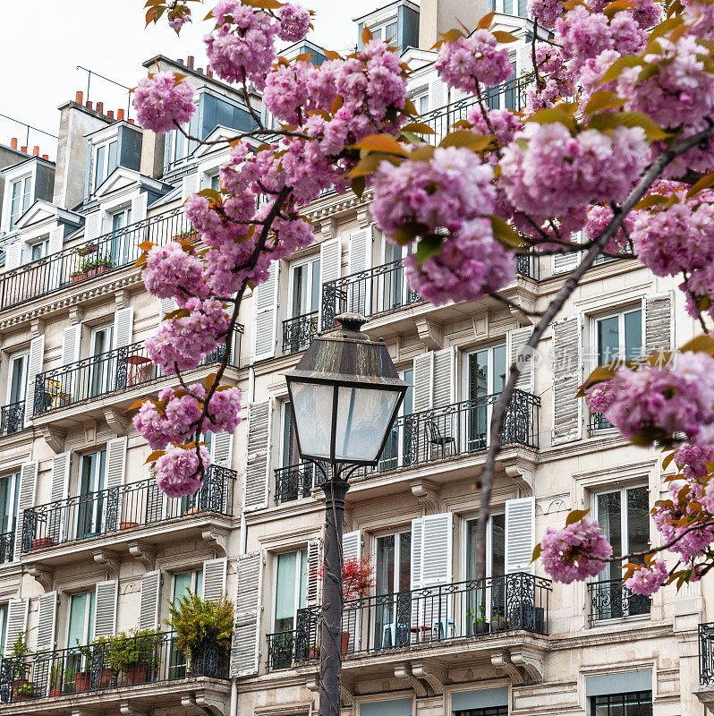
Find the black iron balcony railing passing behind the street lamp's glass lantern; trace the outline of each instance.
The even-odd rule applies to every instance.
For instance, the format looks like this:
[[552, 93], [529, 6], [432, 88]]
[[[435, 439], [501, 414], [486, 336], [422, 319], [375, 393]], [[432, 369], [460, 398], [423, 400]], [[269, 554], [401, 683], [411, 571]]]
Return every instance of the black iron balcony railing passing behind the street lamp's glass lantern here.
[[[463, 400], [443, 408], [400, 415], [387, 437], [376, 468], [354, 473], [387, 473], [450, 457], [470, 455], [489, 447], [489, 422], [498, 394]], [[501, 445], [538, 449], [540, 397], [515, 390], [506, 410]], [[276, 502], [290, 502], [310, 495], [321, 473], [309, 463], [279, 467], [275, 471]]]

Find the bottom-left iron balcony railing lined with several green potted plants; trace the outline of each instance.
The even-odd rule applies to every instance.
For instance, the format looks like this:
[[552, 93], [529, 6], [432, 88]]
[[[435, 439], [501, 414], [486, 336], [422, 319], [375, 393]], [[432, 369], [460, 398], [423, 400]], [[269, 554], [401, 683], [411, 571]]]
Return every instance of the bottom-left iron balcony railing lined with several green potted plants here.
[[228, 678], [225, 646], [202, 644], [187, 659], [174, 634], [156, 632], [6, 658], [0, 703], [197, 677]]

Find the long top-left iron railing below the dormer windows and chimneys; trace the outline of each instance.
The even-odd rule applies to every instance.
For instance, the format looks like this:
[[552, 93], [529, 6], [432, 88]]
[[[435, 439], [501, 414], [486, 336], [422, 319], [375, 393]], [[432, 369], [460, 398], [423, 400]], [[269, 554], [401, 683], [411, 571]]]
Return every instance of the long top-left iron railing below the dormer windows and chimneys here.
[[0, 309], [129, 266], [140, 257], [139, 244], [144, 241], [163, 246], [174, 238], [188, 237], [198, 238], [198, 234], [179, 207], [11, 268], [0, 274]]

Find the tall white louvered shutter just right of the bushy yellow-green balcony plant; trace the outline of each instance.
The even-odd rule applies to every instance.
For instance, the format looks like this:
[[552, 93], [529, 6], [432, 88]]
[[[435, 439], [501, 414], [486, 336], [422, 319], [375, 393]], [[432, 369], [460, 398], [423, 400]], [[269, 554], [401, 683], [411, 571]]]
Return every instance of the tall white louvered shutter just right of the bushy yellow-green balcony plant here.
[[260, 554], [238, 559], [238, 590], [231, 643], [231, 677], [251, 676], [258, 671], [260, 610]]

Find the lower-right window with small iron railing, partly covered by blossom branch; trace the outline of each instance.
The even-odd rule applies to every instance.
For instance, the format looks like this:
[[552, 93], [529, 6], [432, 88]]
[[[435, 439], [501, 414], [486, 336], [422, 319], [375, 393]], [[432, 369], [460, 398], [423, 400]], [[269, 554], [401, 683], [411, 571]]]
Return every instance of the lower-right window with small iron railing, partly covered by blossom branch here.
[[[595, 516], [614, 555], [647, 550], [650, 543], [650, 499], [645, 486], [595, 495]], [[630, 594], [622, 585], [622, 569], [610, 563], [591, 585], [592, 617], [620, 618], [650, 613], [650, 599]]]

